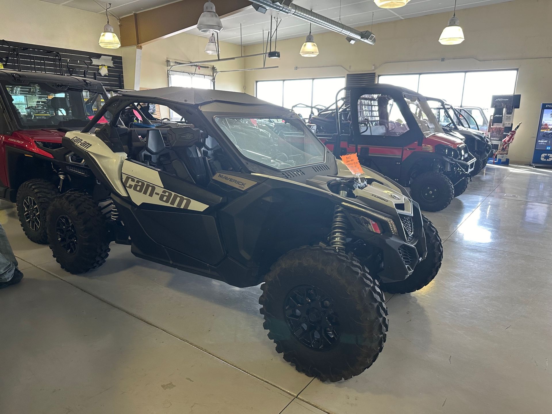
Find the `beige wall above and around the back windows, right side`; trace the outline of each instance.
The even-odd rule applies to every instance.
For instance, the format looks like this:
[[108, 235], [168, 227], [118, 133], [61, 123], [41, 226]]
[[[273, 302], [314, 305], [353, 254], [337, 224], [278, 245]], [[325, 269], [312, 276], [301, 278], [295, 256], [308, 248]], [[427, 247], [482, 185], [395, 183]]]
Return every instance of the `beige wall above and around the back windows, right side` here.
[[[246, 92], [254, 94], [257, 80], [344, 76], [349, 71], [373, 72], [373, 67], [378, 75], [516, 68], [519, 69], [516, 93], [522, 94], [522, 102], [514, 122], [522, 121], [523, 125], [510, 147], [510, 156], [514, 161], [528, 162], [534, 148], [540, 104], [552, 102], [550, 16], [551, 0], [515, 0], [459, 10], [457, 17], [466, 40], [456, 46], [443, 46], [437, 41], [452, 17], [449, 13], [376, 24], [374, 46], [348, 45], [342, 35], [335, 33], [318, 34], [315, 40], [320, 55], [315, 58], [299, 55], [304, 37], [278, 41], [282, 58], [275, 64], [280, 68], [245, 72]], [[260, 51], [261, 45], [245, 48], [245, 54]], [[546, 59], [535, 59], [541, 57]], [[256, 66], [262, 66], [260, 59], [246, 60], [246, 67]], [[296, 66], [300, 68], [295, 70]], [[309, 68], [301, 68], [305, 66]]]

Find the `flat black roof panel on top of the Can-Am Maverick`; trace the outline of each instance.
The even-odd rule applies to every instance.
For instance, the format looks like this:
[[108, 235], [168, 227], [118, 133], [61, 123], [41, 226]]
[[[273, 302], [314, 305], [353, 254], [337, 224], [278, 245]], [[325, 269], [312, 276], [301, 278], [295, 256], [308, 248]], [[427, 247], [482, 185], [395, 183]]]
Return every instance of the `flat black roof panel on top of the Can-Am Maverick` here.
[[211, 102], [225, 102], [247, 105], [270, 105], [281, 108], [264, 100], [242, 92], [216, 91], [213, 89], [194, 89], [169, 86], [168, 88], [147, 89], [145, 91], [121, 92], [124, 97], [140, 100], [162, 99], [181, 104], [201, 105]]

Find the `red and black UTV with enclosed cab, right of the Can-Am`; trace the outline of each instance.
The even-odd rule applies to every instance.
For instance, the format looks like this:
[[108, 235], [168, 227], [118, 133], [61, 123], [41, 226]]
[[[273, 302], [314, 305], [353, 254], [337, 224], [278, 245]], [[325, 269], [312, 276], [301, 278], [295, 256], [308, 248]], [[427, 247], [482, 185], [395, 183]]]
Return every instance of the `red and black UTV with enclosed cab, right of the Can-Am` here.
[[336, 156], [358, 153], [364, 166], [410, 187], [426, 211], [443, 210], [466, 190], [475, 157], [461, 139], [445, 134], [426, 97], [387, 84], [345, 90], [348, 99], [336, 98], [333, 115], [311, 117]]

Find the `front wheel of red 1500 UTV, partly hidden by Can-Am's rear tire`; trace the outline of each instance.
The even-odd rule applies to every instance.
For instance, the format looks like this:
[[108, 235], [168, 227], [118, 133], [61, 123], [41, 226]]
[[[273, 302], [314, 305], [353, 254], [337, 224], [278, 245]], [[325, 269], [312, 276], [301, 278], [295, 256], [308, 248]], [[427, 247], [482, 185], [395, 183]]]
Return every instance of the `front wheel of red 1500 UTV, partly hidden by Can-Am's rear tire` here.
[[17, 190], [17, 215], [25, 236], [42, 245], [48, 242], [46, 213], [51, 201], [59, 195], [57, 187], [43, 179], [31, 179]]

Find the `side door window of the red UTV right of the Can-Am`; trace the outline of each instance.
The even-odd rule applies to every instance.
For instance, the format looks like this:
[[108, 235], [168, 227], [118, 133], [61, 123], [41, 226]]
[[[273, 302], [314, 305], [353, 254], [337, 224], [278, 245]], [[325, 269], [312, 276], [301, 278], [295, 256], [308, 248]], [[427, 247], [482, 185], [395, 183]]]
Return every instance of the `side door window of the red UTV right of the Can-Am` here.
[[362, 95], [358, 100], [360, 134], [399, 136], [408, 131], [395, 101], [386, 95]]

